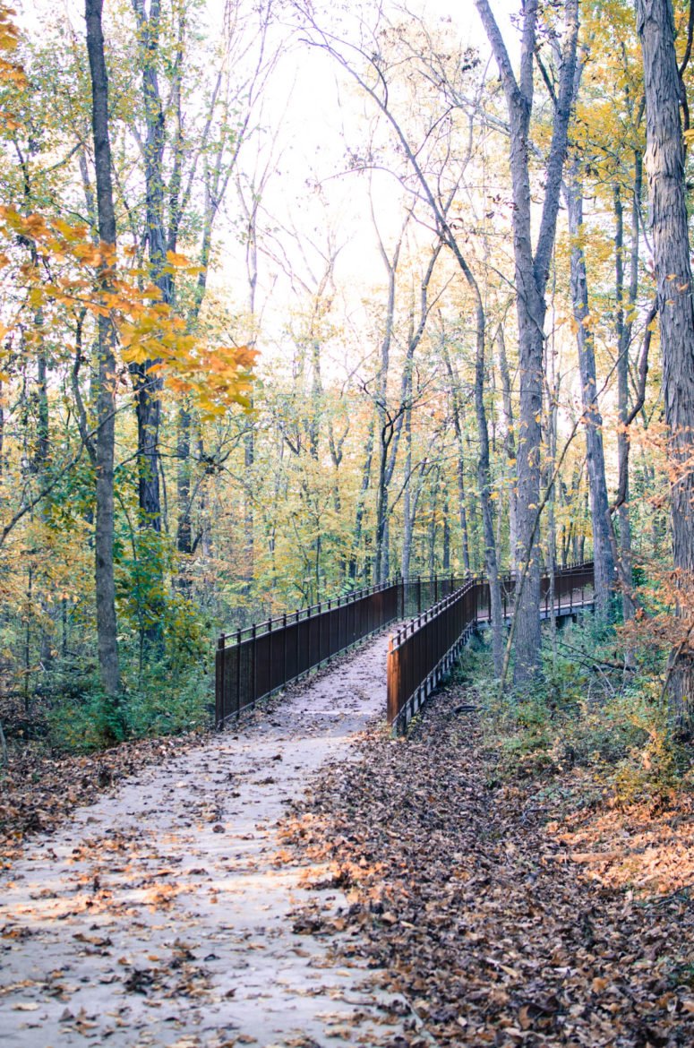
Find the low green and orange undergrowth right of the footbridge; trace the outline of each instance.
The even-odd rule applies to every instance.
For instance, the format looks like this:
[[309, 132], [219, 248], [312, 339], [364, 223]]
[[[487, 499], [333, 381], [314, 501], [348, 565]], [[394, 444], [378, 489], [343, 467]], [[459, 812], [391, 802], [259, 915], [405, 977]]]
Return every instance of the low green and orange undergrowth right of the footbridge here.
[[[454, 680], [478, 697], [498, 780], [570, 778], [579, 792], [613, 803], [666, 799], [694, 787], [692, 755], [675, 738], [652, 652], [621, 648], [611, 627], [586, 616], [543, 641], [530, 686], [499, 693], [489, 638], [462, 654]], [[585, 796], [584, 796], [585, 801]]]

